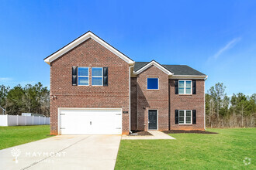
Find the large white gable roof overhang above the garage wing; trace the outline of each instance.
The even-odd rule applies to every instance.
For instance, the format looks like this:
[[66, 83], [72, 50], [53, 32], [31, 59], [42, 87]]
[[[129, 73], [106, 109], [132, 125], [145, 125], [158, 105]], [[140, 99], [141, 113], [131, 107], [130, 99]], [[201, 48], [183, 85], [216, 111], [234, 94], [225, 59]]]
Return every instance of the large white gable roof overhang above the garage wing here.
[[71, 49], [74, 49], [74, 47], [81, 44], [81, 42], [85, 42], [85, 40], [87, 40], [89, 38], [94, 39], [96, 42], [98, 42], [99, 44], [104, 46], [106, 49], [109, 49], [109, 51], [116, 54], [116, 56], [119, 56], [121, 59], [126, 61], [126, 63], [129, 63], [130, 65], [134, 64], [134, 61], [132, 59], [130, 59], [128, 56], [125, 56], [123, 53], [119, 52], [119, 50], [110, 46], [103, 39], [99, 38], [99, 36], [96, 36], [94, 33], [90, 32], [90, 31], [88, 31], [84, 35], [78, 37], [78, 39], [75, 39], [73, 42], [67, 44], [67, 46], [64, 46], [63, 48], [59, 49], [57, 52], [51, 54], [50, 56], [47, 56], [47, 58], [44, 59], [44, 62], [48, 63], [50, 65], [50, 63], [53, 62], [55, 59], [62, 56], [64, 53], [67, 53]]

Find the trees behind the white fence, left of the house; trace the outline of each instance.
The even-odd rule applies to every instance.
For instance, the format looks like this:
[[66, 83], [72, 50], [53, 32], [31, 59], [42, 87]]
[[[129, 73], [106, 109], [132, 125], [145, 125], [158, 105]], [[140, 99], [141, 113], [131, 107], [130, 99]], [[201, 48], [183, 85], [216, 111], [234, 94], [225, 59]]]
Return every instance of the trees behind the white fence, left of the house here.
[[0, 85], [0, 106], [5, 114], [43, 114], [50, 117], [50, 91], [42, 83], [10, 88]]

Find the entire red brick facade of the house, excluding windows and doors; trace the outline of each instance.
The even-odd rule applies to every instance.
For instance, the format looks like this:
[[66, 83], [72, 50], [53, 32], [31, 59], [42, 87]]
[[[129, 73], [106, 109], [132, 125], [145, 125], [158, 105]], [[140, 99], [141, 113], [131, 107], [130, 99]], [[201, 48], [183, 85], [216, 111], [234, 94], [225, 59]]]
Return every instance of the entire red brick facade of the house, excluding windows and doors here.
[[[108, 67], [108, 86], [72, 86], [72, 66]], [[148, 110], [157, 110], [157, 129], [204, 130], [204, 80], [196, 80], [196, 94], [175, 94], [174, 79], [156, 66], [137, 77], [130, 65], [93, 39], [87, 39], [50, 63], [50, 134], [58, 134], [58, 108], [122, 108], [123, 134], [148, 130]], [[147, 90], [147, 78], [158, 78], [159, 89]], [[130, 88], [129, 88], [130, 80]], [[130, 90], [130, 93], [129, 93]], [[196, 110], [196, 124], [175, 124], [175, 110]], [[131, 120], [130, 120], [131, 117]]]

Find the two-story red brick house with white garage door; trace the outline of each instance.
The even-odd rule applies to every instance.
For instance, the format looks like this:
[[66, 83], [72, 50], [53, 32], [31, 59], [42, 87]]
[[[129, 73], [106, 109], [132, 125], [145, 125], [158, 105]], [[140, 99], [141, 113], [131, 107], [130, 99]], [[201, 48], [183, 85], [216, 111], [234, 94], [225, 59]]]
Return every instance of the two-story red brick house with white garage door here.
[[189, 66], [134, 62], [92, 32], [44, 61], [51, 134], [205, 128], [207, 76]]

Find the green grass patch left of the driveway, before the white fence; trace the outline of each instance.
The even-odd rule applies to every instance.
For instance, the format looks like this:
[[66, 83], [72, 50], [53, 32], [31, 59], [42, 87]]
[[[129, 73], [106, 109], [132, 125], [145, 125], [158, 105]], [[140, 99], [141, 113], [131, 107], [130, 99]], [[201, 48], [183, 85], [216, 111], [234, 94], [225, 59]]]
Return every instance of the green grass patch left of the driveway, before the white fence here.
[[48, 138], [50, 125], [0, 127], [0, 149]]

